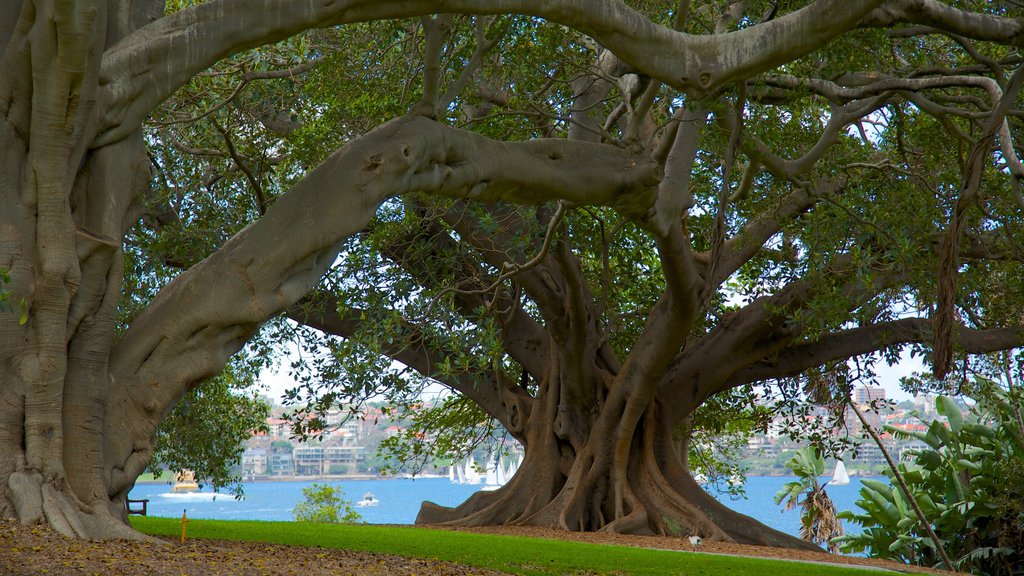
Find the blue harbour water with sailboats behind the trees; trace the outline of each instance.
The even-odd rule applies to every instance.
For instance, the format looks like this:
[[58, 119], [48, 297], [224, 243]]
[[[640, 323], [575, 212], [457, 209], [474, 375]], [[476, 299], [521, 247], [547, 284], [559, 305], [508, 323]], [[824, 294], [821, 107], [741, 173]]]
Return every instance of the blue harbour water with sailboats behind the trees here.
[[[792, 477], [752, 477], [746, 481], [748, 498], [731, 500], [721, 497], [730, 508], [753, 517], [783, 532], [799, 535], [800, 512], [782, 512], [773, 496]], [[822, 479], [825, 482], [827, 479]], [[884, 480], [884, 479], [883, 479]], [[446, 478], [318, 481], [340, 486], [344, 498], [355, 502], [367, 492], [379, 500], [377, 506], [355, 508], [369, 524], [413, 524], [423, 500], [454, 506], [462, 503], [479, 486], [453, 484]], [[180, 517], [187, 510], [189, 518], [217, 520], [292, 520], [292, 508], [302, 499], [302, 489], [313, 482], [252, 482], [245, 485], [245, 498], [236, 500], [230, 494], [172, 494], [168, 484], [139, 484], [131, 498], [148, 498], [150, 516]], [[854, 509], [860, 488], [858, 479], [847, 486], [830, 486], [828, 495], [837, 510]], [[846, 525], [846, 531], [857, 527]]]

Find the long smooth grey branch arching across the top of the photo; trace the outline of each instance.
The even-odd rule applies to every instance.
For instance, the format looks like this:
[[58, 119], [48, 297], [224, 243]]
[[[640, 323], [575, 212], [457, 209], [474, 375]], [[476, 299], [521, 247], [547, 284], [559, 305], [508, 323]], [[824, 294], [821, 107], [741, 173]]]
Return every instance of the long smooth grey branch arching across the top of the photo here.
[[217, 60], [310, 28], [438, 10], [529, 14], [592, 36], [623, 60], [680, 90], [706, 94], [820, 48], [881, 4], [881, 0], [819, 0], [736, 32], [692, 36], [658, 26], [621, 1], [599, 6], [578, 0], [207, 2], [169, 14], [108, 50], [100, 104], [109, 112], [94, 146], [130, 133], [159, 102]]

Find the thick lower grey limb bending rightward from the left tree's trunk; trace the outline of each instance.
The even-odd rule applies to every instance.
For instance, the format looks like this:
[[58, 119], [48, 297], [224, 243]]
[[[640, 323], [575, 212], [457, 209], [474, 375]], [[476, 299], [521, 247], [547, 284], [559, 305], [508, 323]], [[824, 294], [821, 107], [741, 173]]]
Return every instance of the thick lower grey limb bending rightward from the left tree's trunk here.
[[118, 443], [108, 450], [112, 465], [123, 466], [181, 395], [308, 292], [341, 242], [386, 199], [422, 191], [484, 201], [613, 203], [626, 191], [647, 191], [652, 179], [651, 165], [613, 147], [495, 142], [424, 117], [400, 118], [347, 143], [262, 218], [161, 290], [115, 345], [111, 377], [120, 385], [106, 421], [114, 426], [124, 414], [137, 414], [139, 425], [134, 438], [111, 435]]

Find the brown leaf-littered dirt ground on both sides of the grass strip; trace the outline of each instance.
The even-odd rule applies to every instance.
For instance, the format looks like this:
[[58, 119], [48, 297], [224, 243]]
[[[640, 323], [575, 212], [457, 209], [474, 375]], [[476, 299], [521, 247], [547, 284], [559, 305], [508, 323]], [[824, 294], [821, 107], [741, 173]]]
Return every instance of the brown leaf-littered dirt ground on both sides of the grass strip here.
[[[428, 530], [425, 528], [424, 530]], [[490, 534], [689, 550], [685, 539], [667, 537], [580, 534], [538, 528], [490, 527]], [[913, 570], [883, 561], [706, 542], [705, 552], [811, 560], [837, 564]], [[376, 575], [497, 575], [458, 564], [369, 552], [281, 546], [252, 542], [188, 540], [161, 545], [128, 541], [71, 540], [44, 527], [24, 527], [0, 521], [0, 575], [3, 576], [376, 576]]]

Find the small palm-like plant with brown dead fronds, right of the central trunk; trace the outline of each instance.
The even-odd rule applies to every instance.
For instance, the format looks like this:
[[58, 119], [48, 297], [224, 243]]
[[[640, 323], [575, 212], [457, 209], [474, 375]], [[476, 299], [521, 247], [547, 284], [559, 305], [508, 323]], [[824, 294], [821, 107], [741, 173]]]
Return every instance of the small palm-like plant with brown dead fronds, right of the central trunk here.
[[800, 480], [782, 486], [775, 493], [775, 503], [782, 504], [783, 510], [800, 506], [800, 537], [815, 544], [825, 544], [830, 552], [838, 551], [833, 540], [843, 535], [843, 525], [837, 519], [836, 506], [825, 493], [825, 487], [818, 483], [818, 477], [825, 469], [821, 453], [813, 446], [806, 446], [797, 450], [785, 465]]

